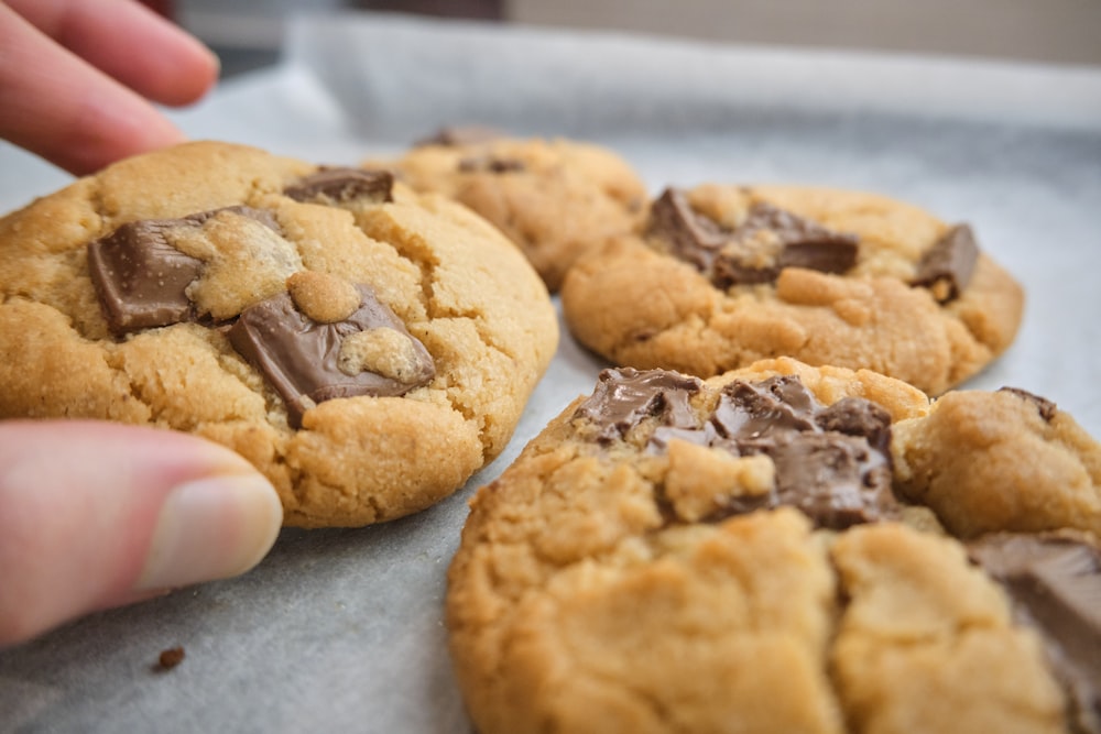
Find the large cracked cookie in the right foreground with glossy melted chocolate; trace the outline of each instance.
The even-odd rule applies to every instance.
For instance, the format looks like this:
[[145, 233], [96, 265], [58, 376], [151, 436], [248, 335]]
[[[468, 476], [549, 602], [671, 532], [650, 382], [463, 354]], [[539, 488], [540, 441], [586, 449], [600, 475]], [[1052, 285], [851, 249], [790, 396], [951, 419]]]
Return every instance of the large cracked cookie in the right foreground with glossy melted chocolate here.
[[[955, 508], [898, 492], [956, 440], [952, 395], [791, 359], [601, 373], [471, 501], [447, 624], [478, 731], [1101, 731], [1101, 546], [1073, 529], [1098, 511], [961, 539]], [[1004, 492], [1101, 496], [1069, 415], [1046, 432], [1036, 398], [979, 403], [1093, 472]], [[960, 464], [999, 482], [1000, 451]]]

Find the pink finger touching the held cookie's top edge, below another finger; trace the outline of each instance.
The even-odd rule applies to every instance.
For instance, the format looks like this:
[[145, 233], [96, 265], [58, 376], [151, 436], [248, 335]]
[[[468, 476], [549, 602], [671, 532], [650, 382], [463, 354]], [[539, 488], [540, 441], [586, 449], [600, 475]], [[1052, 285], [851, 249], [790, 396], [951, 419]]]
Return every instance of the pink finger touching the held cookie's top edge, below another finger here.
[[145, 99], [2, 2], [0, 135], [77, 175], [184, 139]]

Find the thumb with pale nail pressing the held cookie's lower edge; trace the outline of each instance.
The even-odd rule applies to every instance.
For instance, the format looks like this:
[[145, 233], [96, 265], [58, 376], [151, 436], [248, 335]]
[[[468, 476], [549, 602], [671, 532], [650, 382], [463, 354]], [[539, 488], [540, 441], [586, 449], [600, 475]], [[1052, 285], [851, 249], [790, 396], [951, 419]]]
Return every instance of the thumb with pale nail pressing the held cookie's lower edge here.
[[0, 423], [0, 646], [252, 568], [283, 511], [238, 454], [152, 428]]

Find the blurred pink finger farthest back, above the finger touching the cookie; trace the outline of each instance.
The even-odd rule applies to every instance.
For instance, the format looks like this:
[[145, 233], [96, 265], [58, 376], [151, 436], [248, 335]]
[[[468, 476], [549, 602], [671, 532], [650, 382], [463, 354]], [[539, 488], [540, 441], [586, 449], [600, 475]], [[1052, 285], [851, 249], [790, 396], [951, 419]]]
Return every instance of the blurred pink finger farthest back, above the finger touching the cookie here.
[[138, 94], [187, 105], [218, 78], [218, 57], [133, 0], [8, 0], [32, 25]]

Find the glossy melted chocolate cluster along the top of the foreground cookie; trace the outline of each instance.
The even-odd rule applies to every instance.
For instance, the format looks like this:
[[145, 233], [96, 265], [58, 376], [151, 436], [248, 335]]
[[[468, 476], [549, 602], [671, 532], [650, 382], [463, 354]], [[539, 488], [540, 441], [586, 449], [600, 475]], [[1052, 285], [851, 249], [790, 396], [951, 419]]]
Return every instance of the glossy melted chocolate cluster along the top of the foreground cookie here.
[[770, 457], [776, 472], [773, 491], [730, 497], [707, 518], [712, 522], [780, 505], [798, 507], [819, 527], [830, 528], [898, 515], [891, 489], [891, 415], [882, 407], [859, 397], [824, 407], [794, 375], [757, 383], [735, 380], [701, 423], [688, 404], [700, 384], [659, 370], [604, 370], [575, 417], [596, 423], [601, 443], [659, 416], [647, 452], [662, 453], [679, 439], [734, 456]]

